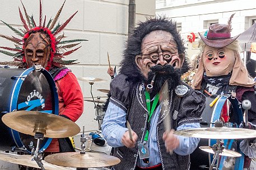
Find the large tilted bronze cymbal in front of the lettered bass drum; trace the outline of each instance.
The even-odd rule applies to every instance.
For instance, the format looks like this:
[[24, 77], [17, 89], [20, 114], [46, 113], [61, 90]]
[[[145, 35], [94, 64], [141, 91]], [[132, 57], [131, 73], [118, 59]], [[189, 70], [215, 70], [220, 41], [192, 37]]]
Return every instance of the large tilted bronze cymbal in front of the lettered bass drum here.
[[2, 121], [18, 132], [33, 136], [37, 132], [48, 138], [66, 138], [80, 132], [80, 128], [72, 120], [38, 111], [13, 111], [3, 115]]

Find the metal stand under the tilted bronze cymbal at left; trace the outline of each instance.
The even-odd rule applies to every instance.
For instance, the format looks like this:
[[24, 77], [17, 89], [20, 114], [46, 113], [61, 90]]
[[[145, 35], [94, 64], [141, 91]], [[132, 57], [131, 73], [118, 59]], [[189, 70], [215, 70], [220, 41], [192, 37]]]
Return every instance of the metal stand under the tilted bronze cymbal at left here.
[[35, 162], [38, 164], [38, 166], [42, 169], [44, 169], [44, 164], [41, 162], [43, 160], [43, 154], [40, 152], [39, 150], [39, 144], [40, 144], [40, 140], [44, 139], [44, 134], [42, 133], [35, 133], [35, 139], [37, 139], [37, 143], [36, 143], [36, 149], [34, 152], [34, 160]]

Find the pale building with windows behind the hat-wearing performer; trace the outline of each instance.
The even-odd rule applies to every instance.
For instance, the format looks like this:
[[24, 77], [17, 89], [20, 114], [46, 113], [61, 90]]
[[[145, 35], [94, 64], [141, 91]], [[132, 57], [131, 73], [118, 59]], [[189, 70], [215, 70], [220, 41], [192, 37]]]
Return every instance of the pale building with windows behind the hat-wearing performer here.
[[[156, 15], [173, 18], [182, 37], [187, 42], [187, 54], [191, 58], [199, 52], [198, 32], [205, 32], [212, 23], [227, 23], [231, 14], [231, 36], [244, 32], [256, 22], [254, 0], [156, 0]], [[194, 42], [188, 36], [194, 33]]]

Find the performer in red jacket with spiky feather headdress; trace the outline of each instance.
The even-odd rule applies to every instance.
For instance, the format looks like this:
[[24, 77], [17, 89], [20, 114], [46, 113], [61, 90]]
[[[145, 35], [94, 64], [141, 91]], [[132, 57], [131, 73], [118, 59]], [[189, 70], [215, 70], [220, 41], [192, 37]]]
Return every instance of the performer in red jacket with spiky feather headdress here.
[[[29, 68], [34, 65], [43, 66], [50, 72], [50, 74], [52, 74], [55, 85], [58, 89], [59, 115], [76, 122], [76, 120], [83, 113], [82, 90], [78, 84], [76, 76], [71, 72], [70, 69], [64, 66], [76, 64], [74, 63], [76, 60], [62, 59], [65, 56], [72, 54], [72, 52], [76, 51], [80, 47], [72, 50], [70, 48], [75, 47], [80, 41], [85, 40], [63, 40], [65, 37], [61, 32], [77, 13], [74, 13], [62, 25], [56, 25], [63, 6], [64, 3], [62, 7], [60, 7], [55, 18], [46, 22], [46, 16], [44, 17], [44, 20], [41, 17], [42, 13], [40, 1], [40, 21], [38, 25], [36, 25], [33, 17], [29, 17], [27, 15], [26, 9], [23, 6], [25, 16], [23, 16], [20, 9], [19, 11], [20, 18], [24, 26], [24, 31], [16, 30], [7, 23], [3, 22], [5, 25], [15, 31], [17, 35], [21, 36], [21, 38], [0, 35], [1, 37], [16, 43], [16, 48], [1, 47], [5, 50], [16, 51], [16, 53], [13, 54], [12, 52], [1, 50], [3, 54], [14, 56], [15, 59], [15, 61], [1, 62], [1, 64], [18, 66], [20, 68]], [[66, 52], [63, 52], [64, 50]], [[53, 139], [49, 147], [44, 151], [44, 156], [58, 152], [75, 152], [75, 149], [72, 147], [72, 144], [68, 138]], [[20, 168], [27, 169], [27, 167], [24, 166], [21, 166]]]

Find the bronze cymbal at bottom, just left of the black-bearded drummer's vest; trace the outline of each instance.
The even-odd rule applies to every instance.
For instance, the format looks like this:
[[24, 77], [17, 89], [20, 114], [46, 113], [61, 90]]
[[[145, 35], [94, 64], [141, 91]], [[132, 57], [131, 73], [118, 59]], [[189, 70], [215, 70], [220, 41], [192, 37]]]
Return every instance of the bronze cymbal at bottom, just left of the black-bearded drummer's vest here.
[[120, 162], [120, 159], [103, 153], [79, 152], [55, 153], [46, 156], [46, 162], [59, 166], [76, 167], [76, 168], [97, 168], [113, 166]]

